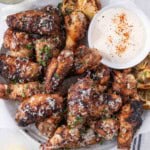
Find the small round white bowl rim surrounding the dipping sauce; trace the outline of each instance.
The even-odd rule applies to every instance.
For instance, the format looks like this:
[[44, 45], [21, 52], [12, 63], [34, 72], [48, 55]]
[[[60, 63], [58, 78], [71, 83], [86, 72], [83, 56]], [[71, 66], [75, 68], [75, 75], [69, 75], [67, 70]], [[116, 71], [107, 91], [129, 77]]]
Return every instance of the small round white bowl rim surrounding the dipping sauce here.
[[104, 65], [106, 65], [110, 68], [114, 68], [114, 69], [126, 69], [126, 68], [133, 67], [133, 66], [139, 64], [141, 61], [143, 61], [150, 52], [150, 22], [149, 22], [149, 19], [147, 18], [147, 16], [131, 1], [126, 0], [126, 1], [120, 1], [120, 2], [113, 3], [113, 4], [109, 4], [108, 6], [102, 8], [94, 16], [94, 18], [92, 19], [91, 24], [89, 26], [89, 30], [88, 30], [89, 47], [92, 48], [92, 31], [94, 29], [97, 17], [101, 13], [103, 13], [104, 11], [106, 11], [110, 8], [125, 8], [127, 10], [132, 11], [134, 14], [136, 14], [140, 18], [140, 21], [143, 23], [143, 27], [145, 30], [145, 41], [144, 41], [144, 46], [143, 46], [143, 49], [141, 50], [141, 52], [136, 57], [133, 57], [132, 60], [130, 60], [127, 63], [114, 63], [114, 62], [106, 59], [103, 56], [103, 54], [102, 54], [103, 59], [101, 62]]

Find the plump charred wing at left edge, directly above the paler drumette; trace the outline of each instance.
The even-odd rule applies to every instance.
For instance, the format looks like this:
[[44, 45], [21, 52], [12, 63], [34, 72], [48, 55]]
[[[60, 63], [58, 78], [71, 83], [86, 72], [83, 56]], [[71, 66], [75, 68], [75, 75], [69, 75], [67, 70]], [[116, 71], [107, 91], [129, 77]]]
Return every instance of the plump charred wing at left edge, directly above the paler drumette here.
[[37, 79], [41, 67], [24, 58], [0, 55], [0, 74], [12, 81], [28, 82]]

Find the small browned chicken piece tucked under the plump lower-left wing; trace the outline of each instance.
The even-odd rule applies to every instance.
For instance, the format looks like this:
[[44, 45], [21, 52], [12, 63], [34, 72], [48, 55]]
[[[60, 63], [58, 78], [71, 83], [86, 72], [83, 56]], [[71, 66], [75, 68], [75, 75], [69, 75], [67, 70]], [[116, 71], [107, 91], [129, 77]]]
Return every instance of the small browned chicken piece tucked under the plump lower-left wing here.
[[51, 117], [45, 119], [42, 122], [36, 124], [36, 127], [41, 134], [51, 138], [58, 127], [59, 122], [62, 119], [60, 112], [53, 113]]

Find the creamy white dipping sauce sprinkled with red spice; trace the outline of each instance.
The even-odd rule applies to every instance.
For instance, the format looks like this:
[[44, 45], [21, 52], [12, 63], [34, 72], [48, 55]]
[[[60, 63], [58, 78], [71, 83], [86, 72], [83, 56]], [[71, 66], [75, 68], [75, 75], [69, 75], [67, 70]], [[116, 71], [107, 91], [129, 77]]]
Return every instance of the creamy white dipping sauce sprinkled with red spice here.
[[125, 8], [111, 8], [100, 13], [92, 30], [92, 47], [113, 63], [128, 63], [144, 47], [143, 23]]

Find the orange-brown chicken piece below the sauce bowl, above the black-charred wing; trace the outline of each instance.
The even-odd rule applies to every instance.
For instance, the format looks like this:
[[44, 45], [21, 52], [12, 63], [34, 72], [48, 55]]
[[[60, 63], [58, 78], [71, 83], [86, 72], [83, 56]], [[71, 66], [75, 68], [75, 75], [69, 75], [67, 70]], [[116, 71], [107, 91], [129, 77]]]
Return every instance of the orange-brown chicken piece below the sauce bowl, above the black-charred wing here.
[[122, 96], [135, 97], [137, 94], [137, 81], [132, 74], [114, 71], [113, 90]]

